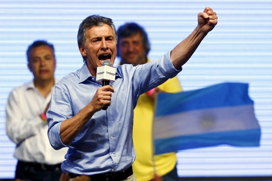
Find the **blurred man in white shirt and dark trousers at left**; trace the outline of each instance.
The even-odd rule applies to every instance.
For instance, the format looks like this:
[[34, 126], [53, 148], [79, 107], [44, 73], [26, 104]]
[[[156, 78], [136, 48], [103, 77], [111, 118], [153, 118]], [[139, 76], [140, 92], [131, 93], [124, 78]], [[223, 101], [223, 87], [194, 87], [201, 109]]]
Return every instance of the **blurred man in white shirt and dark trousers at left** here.
[[54, 150], [47, 137], [46, 112], [50, 105], [56, 59], [54, 47], [35, 41], [27, 50], [33, 81], [11, 91], [6, 105], [6, 132], [16, 144], [17, 180], [59, 180], [67, 148]]

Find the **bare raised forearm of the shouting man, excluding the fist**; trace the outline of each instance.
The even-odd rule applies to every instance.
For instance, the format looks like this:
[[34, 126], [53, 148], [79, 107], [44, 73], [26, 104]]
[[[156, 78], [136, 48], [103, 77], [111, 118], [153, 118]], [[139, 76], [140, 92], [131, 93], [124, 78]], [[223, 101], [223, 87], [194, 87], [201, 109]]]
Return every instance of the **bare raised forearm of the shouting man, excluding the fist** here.
[[197, 26], [189, 37], [179, 43], [171, 51], [170, 58], [176, 69], [180, 68], [190, 59], [206, 35], [207, 33], [204, 33], [201, 28]]

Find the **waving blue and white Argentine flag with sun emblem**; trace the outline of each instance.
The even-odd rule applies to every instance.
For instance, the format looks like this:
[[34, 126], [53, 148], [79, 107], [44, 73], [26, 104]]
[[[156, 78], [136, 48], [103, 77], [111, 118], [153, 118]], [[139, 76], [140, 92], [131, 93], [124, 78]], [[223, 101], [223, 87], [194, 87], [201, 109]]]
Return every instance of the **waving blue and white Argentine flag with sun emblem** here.
[[160, 93], [153, 120], [155, 154], [222, 144], [260, 146], [261, 129], [248, 84], [222, 83]]

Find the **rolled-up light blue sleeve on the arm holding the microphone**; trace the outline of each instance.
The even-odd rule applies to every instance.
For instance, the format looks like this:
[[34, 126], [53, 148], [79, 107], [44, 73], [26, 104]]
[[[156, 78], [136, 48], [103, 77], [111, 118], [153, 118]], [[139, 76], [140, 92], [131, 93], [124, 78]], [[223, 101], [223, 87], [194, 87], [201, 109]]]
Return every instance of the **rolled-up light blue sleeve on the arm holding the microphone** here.
[[60, 125], [66, 119], [73, 117], [70, 94], [59, 84], [56, 84], [52, 93], [50, 107], [47, 111], [48, 138], [55, 150], [68, 147], [60, 140]]

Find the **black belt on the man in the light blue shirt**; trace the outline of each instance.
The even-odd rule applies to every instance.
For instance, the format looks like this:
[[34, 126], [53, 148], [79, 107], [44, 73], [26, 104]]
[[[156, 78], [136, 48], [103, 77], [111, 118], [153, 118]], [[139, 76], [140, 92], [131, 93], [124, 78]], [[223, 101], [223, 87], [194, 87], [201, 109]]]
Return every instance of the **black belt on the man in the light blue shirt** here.
[[[101, 173], [96, 175], [89, 175], [91, 181], [121, 181], [127, 179], [129, 176], [133, 174], [132, 166], [129, 167], [127, 170], [123, 170], [120, 172], [108, 172], [108, 173]], [[75, 178], [80, 176], [78, 174], [69, 173], [70, 178]]]

